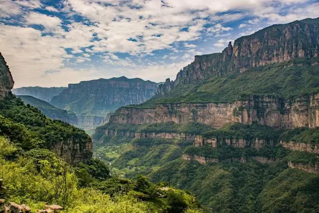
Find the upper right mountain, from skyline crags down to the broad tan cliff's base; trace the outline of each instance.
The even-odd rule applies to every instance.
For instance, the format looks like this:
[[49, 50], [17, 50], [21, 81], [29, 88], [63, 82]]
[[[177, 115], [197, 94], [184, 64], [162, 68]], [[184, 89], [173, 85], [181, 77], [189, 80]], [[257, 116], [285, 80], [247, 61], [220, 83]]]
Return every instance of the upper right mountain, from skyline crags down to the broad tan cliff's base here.
[[258, 122], [275, 128], [319, 126], [319, 19], [277, 24], [195, 56], [141, 105], [118, 109], [115, 123]]

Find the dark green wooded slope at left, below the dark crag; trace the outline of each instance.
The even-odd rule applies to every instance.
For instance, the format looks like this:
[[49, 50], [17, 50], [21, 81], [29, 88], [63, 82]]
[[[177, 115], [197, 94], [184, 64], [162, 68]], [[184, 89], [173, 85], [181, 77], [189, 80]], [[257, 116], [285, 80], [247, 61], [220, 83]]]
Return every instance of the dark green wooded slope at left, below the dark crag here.
[[[24, 105], [19, 98], [0, 101], [0, 135], [8, 136], [23, 149], [49, 149], [61, 141], [72, 139], [82, 150], [89, 136], [59, 120], [46, 118], [38, 109]], [[84, 153], [88, 157], [90, 153]]]

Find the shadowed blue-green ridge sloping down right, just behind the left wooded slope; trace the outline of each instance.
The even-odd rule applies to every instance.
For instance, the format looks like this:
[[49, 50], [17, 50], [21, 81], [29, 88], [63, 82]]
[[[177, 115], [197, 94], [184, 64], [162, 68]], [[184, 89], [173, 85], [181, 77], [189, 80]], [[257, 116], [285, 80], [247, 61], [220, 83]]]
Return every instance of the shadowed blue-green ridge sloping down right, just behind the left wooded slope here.
[[29, 95], [18, 95], [19, 98], [24, 102], [24, 104], [29, 104], [39, 109], [45, 116], [61, 120], [69, 124], [77, 124], [77, 118], [75, 114], [68, 113], [66, 110], [56, 108], [55, 106], [49, 104], [48, 102], [42, 101], [35, 97]]

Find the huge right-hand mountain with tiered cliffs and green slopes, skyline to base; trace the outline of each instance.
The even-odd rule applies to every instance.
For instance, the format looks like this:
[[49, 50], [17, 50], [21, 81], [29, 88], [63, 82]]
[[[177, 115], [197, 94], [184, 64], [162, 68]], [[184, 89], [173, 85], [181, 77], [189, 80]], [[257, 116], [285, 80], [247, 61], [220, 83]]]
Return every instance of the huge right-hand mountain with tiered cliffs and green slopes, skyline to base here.
[[92, 136], [112, 173], [195, 194], [208, 212], [318, 212], [319, 18], [195, 60]]

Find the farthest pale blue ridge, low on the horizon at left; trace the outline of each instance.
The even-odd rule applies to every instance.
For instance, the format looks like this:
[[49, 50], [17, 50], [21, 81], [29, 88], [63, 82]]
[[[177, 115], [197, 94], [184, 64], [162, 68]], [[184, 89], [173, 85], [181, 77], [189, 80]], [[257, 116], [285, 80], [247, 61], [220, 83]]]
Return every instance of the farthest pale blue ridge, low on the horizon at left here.
[[29, 95], [50, 102], [52, 97], [60, 94], [66, 87], [21, 87], [12, 89], [15, 95]]

